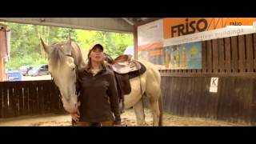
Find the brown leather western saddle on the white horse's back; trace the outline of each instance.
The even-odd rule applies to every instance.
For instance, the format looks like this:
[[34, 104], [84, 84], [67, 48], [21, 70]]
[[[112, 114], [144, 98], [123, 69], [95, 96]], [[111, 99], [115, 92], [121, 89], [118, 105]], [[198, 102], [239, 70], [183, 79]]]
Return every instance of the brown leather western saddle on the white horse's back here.
[[138, 61], [132, 60], [131, 55], [121, 55], [114, 60], [112, 58], [107, 58], [107, 62], [110, 63], [111, 69], [114, 71], [114, 76], [117, 82], [118, 97], [122, 101], [123, 106], [123, 96], [125, 94], [130, 94], [130, 78], [138, 77], [144, 74], [146, 67]]

